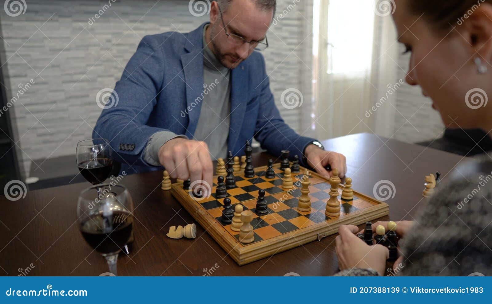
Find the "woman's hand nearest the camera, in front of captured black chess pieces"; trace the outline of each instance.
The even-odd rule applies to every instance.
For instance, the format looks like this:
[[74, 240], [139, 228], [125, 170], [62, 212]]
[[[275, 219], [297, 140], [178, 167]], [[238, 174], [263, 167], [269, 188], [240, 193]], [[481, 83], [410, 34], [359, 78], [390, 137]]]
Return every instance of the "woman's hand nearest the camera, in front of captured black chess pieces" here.
[[338, 228], [338, 236], [335, 239], [340, 270], [362, 268], [373, 269], [384, 276], [386, 260], [390, 257], [390, 251], [383, 245], [369, 246], [359, 239], [355, 233], [357, 226], [341, 225]]

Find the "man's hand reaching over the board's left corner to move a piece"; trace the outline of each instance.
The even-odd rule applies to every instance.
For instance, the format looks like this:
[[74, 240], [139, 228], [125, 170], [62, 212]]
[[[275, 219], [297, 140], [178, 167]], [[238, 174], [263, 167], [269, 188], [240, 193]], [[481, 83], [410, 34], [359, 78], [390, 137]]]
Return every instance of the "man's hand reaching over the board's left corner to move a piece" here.
[[207, 188], [212, 188], [214, 167], [209, 147], [203, 141], [173, 138], [160, 147], [159, 162], [172, 178], [202, 180], [202, 184], [208, 183]]

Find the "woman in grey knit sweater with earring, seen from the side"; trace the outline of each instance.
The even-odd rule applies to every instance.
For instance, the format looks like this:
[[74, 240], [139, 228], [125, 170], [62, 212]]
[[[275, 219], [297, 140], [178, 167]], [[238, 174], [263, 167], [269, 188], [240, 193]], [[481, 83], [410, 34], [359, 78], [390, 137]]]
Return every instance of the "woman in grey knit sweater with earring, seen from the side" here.
[[[394, 0], [399, 41], [411, 52], [407, 83], [420, 85], [450, 129], [492, 131], [492, 0]], [[490, 185], [488, 184], [490, 182]], [[416, 204], [418, 202], [415, 202]], [[397, 225], [401, 276], [492, 275], [492, 157], [457, 165], [416, 221]], [[418, 207], [418, 208], [419, 208]], [[375, 223], [376, 225], [387, 223]], [[338, 276], [384, 275], [388, 249], [340, 226]]]

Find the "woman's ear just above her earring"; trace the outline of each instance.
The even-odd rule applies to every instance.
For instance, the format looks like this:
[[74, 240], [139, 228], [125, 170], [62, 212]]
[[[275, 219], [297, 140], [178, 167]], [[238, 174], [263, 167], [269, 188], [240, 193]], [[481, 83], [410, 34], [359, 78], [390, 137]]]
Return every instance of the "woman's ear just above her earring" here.
[[464, 34], [463, 37], [475, 52], [492, 63], [492, 5], [482, 3], [475, 11], [468, 11], [463, 18], [466, 19], [456, 29]]

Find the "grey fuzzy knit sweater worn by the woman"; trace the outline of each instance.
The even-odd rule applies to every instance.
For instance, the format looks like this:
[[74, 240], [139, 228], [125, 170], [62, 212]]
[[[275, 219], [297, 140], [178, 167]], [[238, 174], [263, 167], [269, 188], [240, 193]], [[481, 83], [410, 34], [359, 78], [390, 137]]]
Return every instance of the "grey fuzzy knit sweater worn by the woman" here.
[[[492, 158], [453, 169], [400, 242], [399, 276], [492, 276]], [[353, 269], [335, 276], [375, 276]]]

